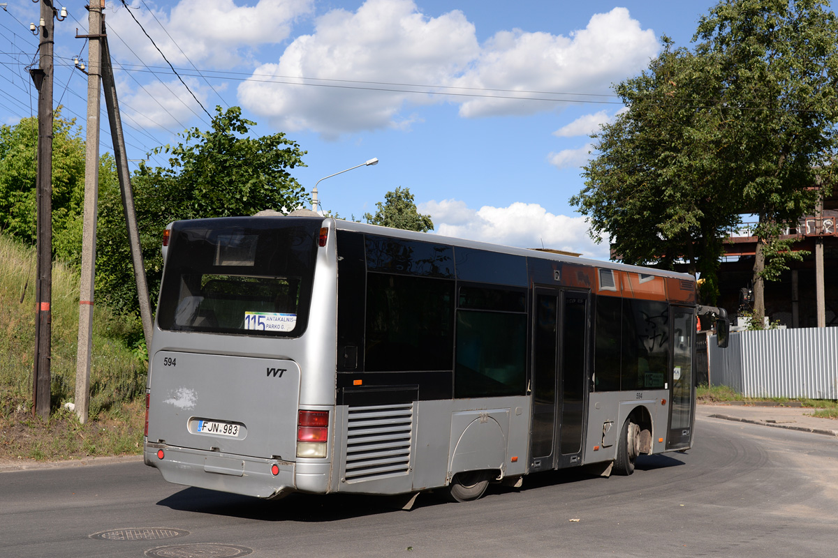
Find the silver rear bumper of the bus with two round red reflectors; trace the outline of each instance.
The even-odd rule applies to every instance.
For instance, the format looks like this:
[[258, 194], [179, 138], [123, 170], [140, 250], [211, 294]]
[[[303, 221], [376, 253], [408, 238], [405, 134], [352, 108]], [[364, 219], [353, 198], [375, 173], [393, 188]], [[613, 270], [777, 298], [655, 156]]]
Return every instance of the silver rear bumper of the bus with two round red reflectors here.
[[[162, 459], [158, 457], [160, 450], [163, 450]], [[147, 465], [160, 469], [163, 479], [174, 484], [256, 498], [282, 498], [297, 491], [296, 465], [288, 461], [178, 448], [164, 443], [146, 443], [143, 458]], [[274, 465], [279, 469], [276, 475], [272, 473]]]

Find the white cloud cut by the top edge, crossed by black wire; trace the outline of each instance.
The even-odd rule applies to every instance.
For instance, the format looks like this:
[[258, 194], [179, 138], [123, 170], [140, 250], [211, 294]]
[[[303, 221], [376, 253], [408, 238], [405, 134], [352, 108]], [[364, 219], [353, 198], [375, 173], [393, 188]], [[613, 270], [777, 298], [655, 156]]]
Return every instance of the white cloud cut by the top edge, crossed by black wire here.
[[136, 18], [176, 68], [191, 61], [199, 68], [230, 69], [241, 64], [252, 67], [253, 49], [285, 41], [292, 23], [312, 8], [313, 0], [259, 0], [252, 6], [234, 0], [180, 0], [168, 13], [151, 1], [128, 13], [117, 3], [108, 13], [107, 26], [118, 37], [110, 46], [122, 62], [136, 64], [139, 57], [148, 65], [165, 65]]

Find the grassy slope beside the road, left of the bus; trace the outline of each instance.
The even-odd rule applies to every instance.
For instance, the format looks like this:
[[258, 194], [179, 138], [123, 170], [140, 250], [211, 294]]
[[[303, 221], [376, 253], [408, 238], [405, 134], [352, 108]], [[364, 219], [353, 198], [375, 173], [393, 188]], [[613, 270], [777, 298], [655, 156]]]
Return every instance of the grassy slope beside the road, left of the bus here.
[[0, 234], [0, 459], [57, 460], [140, 453], [146, 364], [126, 340], [135, 321], [97, 303], [93, 318], [88, 421], [62, 406], [75, 397], [79, 278], [56, 263], [52, 280], [49, 421], [32, 415], [35, 251]]

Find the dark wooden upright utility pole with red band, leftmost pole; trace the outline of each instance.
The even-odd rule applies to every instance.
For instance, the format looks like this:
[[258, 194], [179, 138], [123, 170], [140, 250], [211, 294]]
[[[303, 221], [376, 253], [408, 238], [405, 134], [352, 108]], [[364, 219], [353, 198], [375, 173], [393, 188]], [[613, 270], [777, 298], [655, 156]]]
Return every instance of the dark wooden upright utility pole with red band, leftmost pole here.
[[53, 47], [54, 8], [51, 0], [41, 0], [38, 69], [30, 71], [38, 90], [38, 265], [35, 301], [35, 361], [32, 373], [32, 413], [49, 418], [49, 361], [52, 336], [52, 142], [53, 142]]

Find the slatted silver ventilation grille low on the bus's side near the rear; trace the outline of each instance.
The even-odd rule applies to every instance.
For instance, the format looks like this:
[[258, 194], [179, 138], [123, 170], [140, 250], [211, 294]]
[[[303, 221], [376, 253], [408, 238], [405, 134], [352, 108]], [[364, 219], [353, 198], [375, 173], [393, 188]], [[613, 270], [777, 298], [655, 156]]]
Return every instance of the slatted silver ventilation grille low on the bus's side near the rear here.
[[411, 463], [413, 404], [349, 407], [347, 482], [406, 474]]

